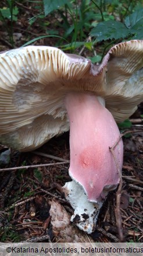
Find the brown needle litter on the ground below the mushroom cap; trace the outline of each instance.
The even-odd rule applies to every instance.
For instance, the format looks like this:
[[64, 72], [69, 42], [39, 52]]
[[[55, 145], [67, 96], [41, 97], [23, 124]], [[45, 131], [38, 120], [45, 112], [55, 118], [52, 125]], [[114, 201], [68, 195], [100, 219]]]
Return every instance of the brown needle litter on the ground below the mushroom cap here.
[[[143, 132], [138, 126], [133, 126], [130, 130], [131, 137], [123, 138], [121, 225], [126, 241], [142, 242]], [[3, 150], [8, 148], [1, 146], [0, 153]], [[62, 192], [62, 186], [70, 181], [69, 162], [66, 161], [70, 157], [69, 133], [53, 138], [39, 148], [38, 152], [11, 151], [10, 162], [5, 165], [5, 168], [52, 165], [0, 172], [2, 181], [0, 182], [0, 240], [5, 242], [120, 241], [115, 214], [117, 191], [109, 193], [99, 214], [96, 230], [91, 235], [85, 234], [70, 222], [73, 209]], [[43, 156], [49, 154], [62, 158], [65, 164], [61, 162], [56, 165], [58, 160]]]

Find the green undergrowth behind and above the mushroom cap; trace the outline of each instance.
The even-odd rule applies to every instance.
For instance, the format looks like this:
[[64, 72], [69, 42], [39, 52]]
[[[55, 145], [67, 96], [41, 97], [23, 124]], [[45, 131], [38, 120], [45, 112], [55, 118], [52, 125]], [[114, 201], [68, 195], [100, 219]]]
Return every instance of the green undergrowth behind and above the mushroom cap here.
[[[140, 0], [26, 0], [23, 5], [25, 2], [29, 9], [35, 9], [36, 15], [27, 20], [28, 38], [23, 46], [49, 37], [53, 39], [53, 46], [76, 54], [81, 51], [96, 63], [102, 60], [114, 43], [143, 37]], [[19, 4], [21, 1], [5, 0], [5, 5], [0, 9], [0, 19], [5, 24], [12, 47], [15, 43], [13, 22], [22, 12]], [[28, 30], [37, 25], [43, 34], [31, 39]]]

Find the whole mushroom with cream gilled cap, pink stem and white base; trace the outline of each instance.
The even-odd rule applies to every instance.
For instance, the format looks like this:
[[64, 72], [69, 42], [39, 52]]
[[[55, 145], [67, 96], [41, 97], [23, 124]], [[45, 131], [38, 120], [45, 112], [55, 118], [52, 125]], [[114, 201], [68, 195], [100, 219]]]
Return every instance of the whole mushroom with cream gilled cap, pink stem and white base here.
[[[108, 192], [117, 187], [123, 142], [116, 122], [143, 99], [143, 41], [117, 44], [101, 65], [46, 46], [0, 56], [0, 141], [19, 151], [40, 147], [70, 127], [73, 179], [63, 187], [74, 221], [92, 233]], [[115, 122], [116, 121], [116, 122]], [[117, 143], [114, 154], [109, 147]]]

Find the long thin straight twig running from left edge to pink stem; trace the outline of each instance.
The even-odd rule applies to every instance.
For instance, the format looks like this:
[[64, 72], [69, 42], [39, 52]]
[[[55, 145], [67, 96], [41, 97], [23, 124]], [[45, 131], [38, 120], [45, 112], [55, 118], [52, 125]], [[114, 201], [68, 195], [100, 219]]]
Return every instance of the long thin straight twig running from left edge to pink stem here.
[[28, 169], [28, 168], [35, 168], [35, 167], [46, 167], [52, 165], [60, 165], [60, 164], [69, 164], [69, 162], [53, 162], [52, 164], [35, 164], [35, 165], [26, 165], [26, 166], [19, 166], [19, 167], [12, 167], [12, 168], [4, 168], [0, 169], [0, 172], [5, 171], [16, 171], [17, 169]]

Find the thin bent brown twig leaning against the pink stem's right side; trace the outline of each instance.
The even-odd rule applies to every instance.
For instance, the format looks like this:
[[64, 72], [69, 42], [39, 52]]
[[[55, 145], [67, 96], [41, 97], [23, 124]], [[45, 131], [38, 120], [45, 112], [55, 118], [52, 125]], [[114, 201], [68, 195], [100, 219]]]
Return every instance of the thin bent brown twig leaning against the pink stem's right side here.
[[[122, 135], [122, 134], [121, 134]], [[117, 229], [118, 229], [118, 233], [119, 233], [119, 237], [120, 237], [120, 241], [123, 242], [124, 241], [124, 236], [123, 236], [123, 228], [122, 228], [122, 220], [121, 220], [121, 212], [120, 212], [120, 202], [121, 202], [121, 189], [122, 189], [122, 185], [123, 185], [123, 180], [121, 178], [121, 171], [119, 168], [119, 164], [117, 162], [115, 153], [114, 153], [114, 149], [116, 147], [116, 145], [119, 143], [120, 139], [122, 136], [119, 136], [119, 139], [117, 139], [116, 143], [113, 145], [113, 147], [109, 147], [110, 152], [113, 155], [113, 158], [115, 160], [115, 164], [116, 164], [116, 168], [117, 171], [119, 173], [119, 177], [120, 177], [120, 183], [119, 183], [119, 187], [117, 189], [117, 193], [116, 193], [116, 211], [115, 211], [115, 216], [116, 216], [116, 223], [117, 223]]]

